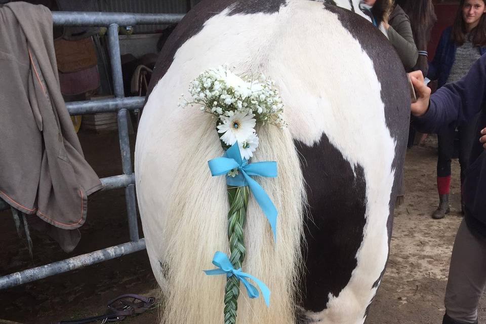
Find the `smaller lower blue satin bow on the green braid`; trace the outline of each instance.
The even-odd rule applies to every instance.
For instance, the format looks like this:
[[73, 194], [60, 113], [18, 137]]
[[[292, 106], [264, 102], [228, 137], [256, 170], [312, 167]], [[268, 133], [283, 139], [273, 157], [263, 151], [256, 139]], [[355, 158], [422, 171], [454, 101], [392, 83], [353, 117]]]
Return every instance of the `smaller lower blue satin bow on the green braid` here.
[[248, 296], [250, 298], [257, 298], [260, 295], [258, 289], [250, 284], [246, 278], [252, 279], [256, 282], [258, 288], [260, 288], [265, 304], [267, 304], [267, 307], [270, 307], [270, 289], [268, 289], [261, 280], [258, 280], [251, 274], [241, 271], [241, 268], [236, 270], [223, 252], [218, 251], [214, 254], [213, 264], [219, 269], [203, 270], [207, 275], [226, 274], [227, 278], [234, 275], [243, 282], [243, 285], [245, 285], [245, 288], [247, 289]]

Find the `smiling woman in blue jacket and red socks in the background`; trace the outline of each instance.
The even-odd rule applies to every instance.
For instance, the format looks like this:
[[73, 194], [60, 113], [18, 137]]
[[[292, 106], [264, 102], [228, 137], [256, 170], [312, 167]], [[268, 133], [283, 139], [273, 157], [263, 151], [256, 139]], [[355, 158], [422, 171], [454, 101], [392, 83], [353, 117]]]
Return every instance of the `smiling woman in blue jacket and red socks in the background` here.
[[[427, 77], [438, 80], [438, 88], [455, 82], [467, 73], [471, 65], [486, 53], [486, 0], [461, 0], [454, 24], [443, 31], [434, 59], [429, 63]], [[432, 218], [440, 219], [450, 212], [449, 186], [451, 182], [451, 159], [454, 152], [456, 127], [459, 137], [459, 163], [461, 165], [461, 185], [464, 172], [469, 164], [467, 152], [471, 142], [474, 122], [457, 123], [444, 128], [437, 136], [437, 189], [439, 206]], [[461, 195], [461, 210], [464, 199]]]

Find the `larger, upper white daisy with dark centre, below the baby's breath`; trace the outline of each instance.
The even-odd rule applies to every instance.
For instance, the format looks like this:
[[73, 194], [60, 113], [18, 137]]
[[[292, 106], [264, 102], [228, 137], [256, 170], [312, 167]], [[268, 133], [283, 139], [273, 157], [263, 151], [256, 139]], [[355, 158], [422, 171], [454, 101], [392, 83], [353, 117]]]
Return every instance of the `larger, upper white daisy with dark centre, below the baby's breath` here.
[[223, 124], [218, 125], [218, 133], [221, 135], [221, 140], [226, 145], [233, 145], [236, 141], [242, 143], [255, 133], [256, 120], [253, 114], [244, 112], [236, 112], [232, 116], [220, 116]]

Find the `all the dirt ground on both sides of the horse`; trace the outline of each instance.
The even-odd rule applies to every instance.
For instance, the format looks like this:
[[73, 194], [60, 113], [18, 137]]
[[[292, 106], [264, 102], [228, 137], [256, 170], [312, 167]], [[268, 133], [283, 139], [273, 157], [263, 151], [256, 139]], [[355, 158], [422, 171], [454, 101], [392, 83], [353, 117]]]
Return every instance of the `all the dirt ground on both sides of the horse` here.
[[[116, 133], [80, 134], [86, 157], [100, 177], [121, 173]], [[451, 214], [433, 220], [436, 208], [436, 140], [407, 152], [406, 200], [396, 209], [391, 254], [368, 324], [441, 323], [449, 260], [461, 222], [459, 164], [453, 161]], [[19, 238], [10, 213], [0, 228], [0, 275], [88, 253], [128, 241], [123, 190], [94, 194], [87, 223], [74, 252], [63, 253], [46, 236], [33, 233], [33, 259], [26, 241]], [[108, 300], [124, 293], [158, 297], [145, 251], [84, 269], [60, 274], [0, 291], [0, 318], [20, 323], [48, 324], [102, 313]], [[156, 323], [157, 310], [124, 320]], [[486, 298], [479, 307], [479, 322], [486, 321]], [[1, 322], [1, 320], [0, 320]]]

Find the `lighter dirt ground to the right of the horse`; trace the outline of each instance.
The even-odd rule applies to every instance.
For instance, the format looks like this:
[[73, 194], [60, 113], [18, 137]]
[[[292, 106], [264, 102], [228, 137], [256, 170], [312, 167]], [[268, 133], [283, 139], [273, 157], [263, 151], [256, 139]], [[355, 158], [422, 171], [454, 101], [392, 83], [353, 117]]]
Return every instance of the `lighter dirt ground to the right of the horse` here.
[[[406, 200], [395, 211], [388, 267], [367, 323], [441, 323], [454, 237], [462, 220], [459, 163], [453, 160], [451, 214], [430, 217], [437, 207], [435, 137], [407, 151]], [[485, 269], [486, 271], [486, 269]], [[479, 306], [486, 321], [486, 298]]]

